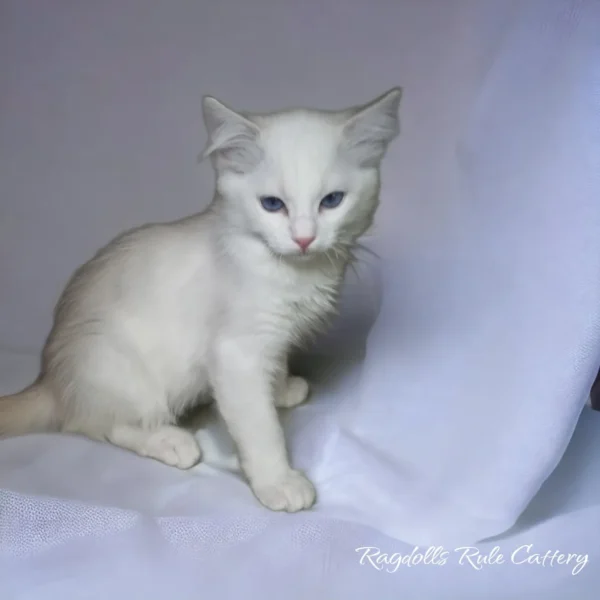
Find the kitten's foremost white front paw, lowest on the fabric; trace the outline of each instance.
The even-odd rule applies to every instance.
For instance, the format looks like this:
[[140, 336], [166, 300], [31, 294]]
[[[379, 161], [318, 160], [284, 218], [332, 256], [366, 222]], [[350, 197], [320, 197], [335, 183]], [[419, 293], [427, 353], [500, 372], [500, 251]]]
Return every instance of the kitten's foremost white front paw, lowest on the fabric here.
[[310, 508], [316, 499], [313, 484], [300, 471], [290, 469], [283, 477], [270, 483], [252, 485], [261, 504], [271, 510], [297, 512]]

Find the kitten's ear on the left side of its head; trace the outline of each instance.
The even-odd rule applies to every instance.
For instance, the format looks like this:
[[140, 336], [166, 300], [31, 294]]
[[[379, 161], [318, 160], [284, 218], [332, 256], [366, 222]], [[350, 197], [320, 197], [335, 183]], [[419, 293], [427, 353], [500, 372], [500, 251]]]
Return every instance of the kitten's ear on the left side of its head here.
[[202, 112], [208, 142], [200, 158], [210, 157], [218, 170], [247, 173], [255, 168], [262, 159], [258, 126], [211, 96], [202, 99]]

